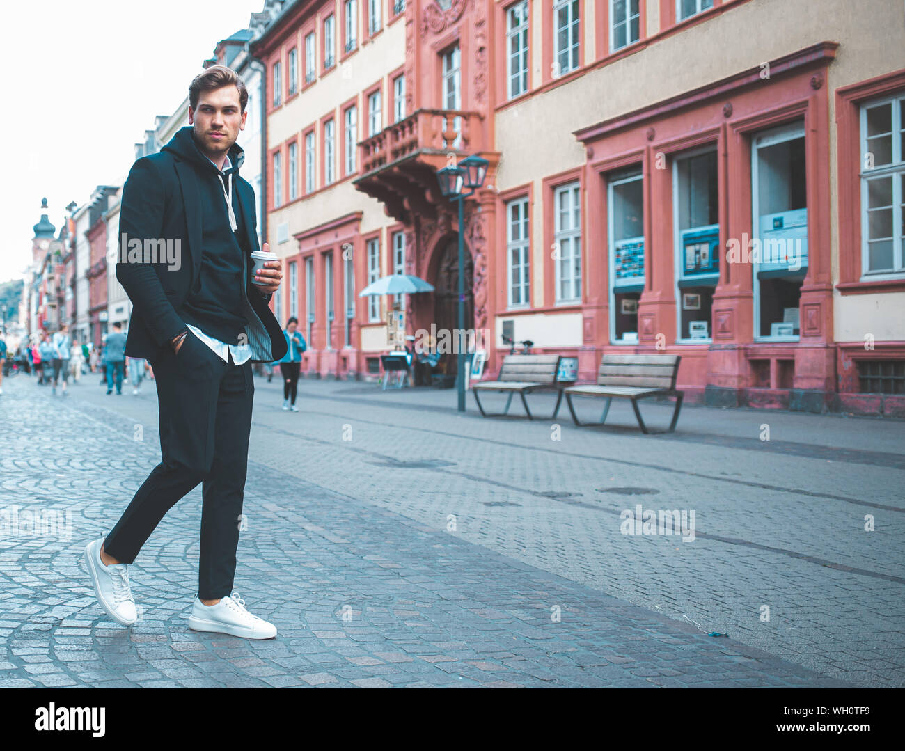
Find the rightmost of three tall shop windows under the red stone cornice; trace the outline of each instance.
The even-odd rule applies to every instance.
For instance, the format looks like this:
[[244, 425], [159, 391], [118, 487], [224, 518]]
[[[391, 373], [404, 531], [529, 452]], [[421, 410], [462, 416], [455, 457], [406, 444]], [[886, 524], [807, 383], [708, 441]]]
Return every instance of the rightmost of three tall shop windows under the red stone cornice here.
[[[754, 274], [754, 335], [795, 341], [807, 272], [804, 123], [752, 138], [751, 185], [754, 236], [751, 257], [743, 260], [751, 262]], [[733, 260], [732, 250], [727, 261]]]

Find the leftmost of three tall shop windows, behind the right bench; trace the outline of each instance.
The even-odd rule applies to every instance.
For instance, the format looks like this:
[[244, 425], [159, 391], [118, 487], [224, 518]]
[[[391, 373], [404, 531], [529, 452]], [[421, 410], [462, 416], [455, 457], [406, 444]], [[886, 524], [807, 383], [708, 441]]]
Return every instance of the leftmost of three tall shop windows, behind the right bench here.
[[638, 343], [638, 300], [644, 289], [641, 172], [617, 173], [607, 185], [610, 238], [610, 341]]

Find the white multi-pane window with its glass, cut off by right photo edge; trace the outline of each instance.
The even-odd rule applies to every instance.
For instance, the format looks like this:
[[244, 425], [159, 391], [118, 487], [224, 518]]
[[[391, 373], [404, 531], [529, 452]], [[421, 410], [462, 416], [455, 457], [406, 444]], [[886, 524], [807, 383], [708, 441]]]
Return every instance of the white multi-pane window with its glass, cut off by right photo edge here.
[[861, 109], [862, 273], [905, 271], [905, 97]]

